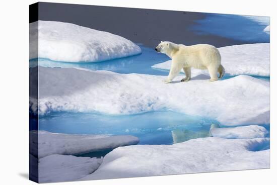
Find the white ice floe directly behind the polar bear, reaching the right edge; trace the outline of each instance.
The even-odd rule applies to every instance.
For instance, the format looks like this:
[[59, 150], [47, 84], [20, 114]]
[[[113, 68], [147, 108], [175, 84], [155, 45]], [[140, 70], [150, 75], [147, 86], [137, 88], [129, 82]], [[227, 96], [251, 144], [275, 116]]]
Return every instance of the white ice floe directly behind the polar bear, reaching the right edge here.
[[[218, 48], [227, 76], [248, 74], [255, 76], [270, 75], [269, 43], [243, 44]], [[171, 60], [153, 65], [153, 68], [170, 70]], [[182, 70], [183, 72], [183, 70]], [[193, 69], [192, 76], [209, 75], [207, 70]]]

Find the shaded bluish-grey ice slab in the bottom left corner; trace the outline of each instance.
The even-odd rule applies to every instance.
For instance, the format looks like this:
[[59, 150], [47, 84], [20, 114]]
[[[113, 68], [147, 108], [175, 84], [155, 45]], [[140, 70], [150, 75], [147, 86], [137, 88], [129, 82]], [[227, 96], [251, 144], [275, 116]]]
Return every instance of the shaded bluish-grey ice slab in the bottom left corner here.
[[39, 182], [78, 180], [94, 172], [103, 158], [49, 155], [39, 159]]

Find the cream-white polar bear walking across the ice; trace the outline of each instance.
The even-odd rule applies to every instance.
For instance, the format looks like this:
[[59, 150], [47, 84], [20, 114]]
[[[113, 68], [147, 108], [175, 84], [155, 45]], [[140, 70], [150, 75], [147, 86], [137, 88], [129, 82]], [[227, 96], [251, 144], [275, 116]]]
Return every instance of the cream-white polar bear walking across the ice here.
[[[155, 50], [160, 53], [165, 53], [172, 59], [169, 75], [164, 80], [165, 83], [170, 83], [173, 78], [179, 74], [182, 68], [185, 72], [185, 78], [181, 81], [184, 82], [190, 80], [191, 67], [209, 70], [211, 76], [210, 81], [216, 81], [218, 78], [224, 76], [225, 69], [221, 65], [221, 56], [219, 50], [215, 46], [209, 44], [185, 46], [183, 44], [161, 41]], [[219, 77], [217, 74], [218, 72]]]

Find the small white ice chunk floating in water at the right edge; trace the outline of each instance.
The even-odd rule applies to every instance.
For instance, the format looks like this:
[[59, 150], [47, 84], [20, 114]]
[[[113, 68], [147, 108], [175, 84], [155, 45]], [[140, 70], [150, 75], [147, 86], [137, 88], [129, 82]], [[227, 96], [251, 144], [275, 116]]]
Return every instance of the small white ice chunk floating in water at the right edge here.
[[259, 138], [266, 137], [268, 131], [258, 125], [249, 125], [233, 128], [212, 128], [210, 133], [214, 137], [222, 137], [227, 139], [234, 138]]

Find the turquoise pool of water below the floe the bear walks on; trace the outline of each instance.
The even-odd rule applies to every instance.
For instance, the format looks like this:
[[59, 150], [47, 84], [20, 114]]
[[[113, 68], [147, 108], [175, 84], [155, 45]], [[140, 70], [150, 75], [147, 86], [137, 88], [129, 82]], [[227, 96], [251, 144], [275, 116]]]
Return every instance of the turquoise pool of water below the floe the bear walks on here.
[[208, 137], [216, 120], [171, 111], [109, 116], [95, 113], [57, 112], [39, 119], [39, 130], [66, 134], [132, 135], [139, 144], [173, 144]]

